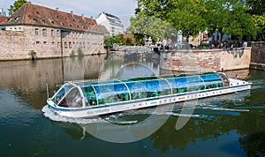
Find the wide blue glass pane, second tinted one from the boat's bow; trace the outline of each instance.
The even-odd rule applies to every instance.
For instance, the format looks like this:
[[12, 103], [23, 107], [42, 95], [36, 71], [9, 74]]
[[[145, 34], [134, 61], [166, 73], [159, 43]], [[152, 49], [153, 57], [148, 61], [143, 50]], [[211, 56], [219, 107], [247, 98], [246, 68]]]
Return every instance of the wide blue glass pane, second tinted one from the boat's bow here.
[[94, 88], [99, 104], [130, 100], [125, 84], [96, 85]]

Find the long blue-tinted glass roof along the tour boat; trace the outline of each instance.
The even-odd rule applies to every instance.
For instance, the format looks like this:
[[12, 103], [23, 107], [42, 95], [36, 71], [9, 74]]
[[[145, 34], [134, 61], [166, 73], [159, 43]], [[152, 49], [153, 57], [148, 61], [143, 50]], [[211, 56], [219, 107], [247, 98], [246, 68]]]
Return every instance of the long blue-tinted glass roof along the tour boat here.
[[207, 72], [193, 75], [123, 78], [74, 84], [81, 87], [87, 101], [93, 99], [96, 100], [96, 104], [104, 104], [222, 87], [223, 81], [218, 73]]

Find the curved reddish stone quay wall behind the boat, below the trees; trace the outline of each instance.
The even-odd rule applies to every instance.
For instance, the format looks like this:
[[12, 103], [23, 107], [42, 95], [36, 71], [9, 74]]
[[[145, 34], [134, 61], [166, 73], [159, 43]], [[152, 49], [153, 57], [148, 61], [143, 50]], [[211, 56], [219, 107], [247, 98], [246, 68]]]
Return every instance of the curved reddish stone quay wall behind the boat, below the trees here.
[[170, 71], [229, 71], [247, 69], [251, 49], [190, 49], [163, 53], [161, 68]]

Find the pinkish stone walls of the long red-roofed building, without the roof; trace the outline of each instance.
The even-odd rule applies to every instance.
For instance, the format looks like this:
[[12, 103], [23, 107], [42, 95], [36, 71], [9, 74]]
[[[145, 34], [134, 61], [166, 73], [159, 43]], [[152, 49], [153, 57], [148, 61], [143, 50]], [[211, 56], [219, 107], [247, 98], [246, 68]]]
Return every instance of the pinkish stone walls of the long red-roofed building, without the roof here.
[[30, 59], [30, 50], [36, 52], [37, 58], [70, 56], [72, 50], [77, 54], [79, 47], [84, 55], [105, 53], [102, 34], [69, 32], [72, 37], [62, 34], [60, 29], [50, 27], [7, 26], [6, 30], [0, 30], [0, 60]]

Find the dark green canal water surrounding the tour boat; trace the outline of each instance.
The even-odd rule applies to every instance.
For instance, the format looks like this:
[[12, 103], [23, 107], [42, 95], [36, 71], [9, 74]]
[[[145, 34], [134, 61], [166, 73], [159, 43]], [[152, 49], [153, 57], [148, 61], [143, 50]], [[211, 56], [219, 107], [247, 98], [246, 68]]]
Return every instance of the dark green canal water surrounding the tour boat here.
[[[163, 62], [163, 61], [160, 61]], [[264, 156], [265, 71], [227, 71], [249, 91], [95, 118], [46, 106], [72, 79], [163, 75], [157, 58], [85, 56], [0, 62], [0, 156]]]

